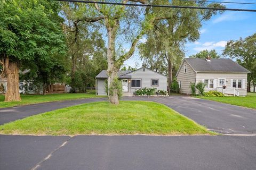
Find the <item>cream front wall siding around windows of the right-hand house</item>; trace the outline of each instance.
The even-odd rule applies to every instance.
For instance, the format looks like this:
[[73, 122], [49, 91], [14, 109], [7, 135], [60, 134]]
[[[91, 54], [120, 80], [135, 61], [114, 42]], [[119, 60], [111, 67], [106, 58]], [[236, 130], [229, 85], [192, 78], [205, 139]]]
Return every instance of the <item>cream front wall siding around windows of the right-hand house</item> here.
[[[196, 82], [203, 81], [203, 79], [216, 79], [216, 86], [219, 86], [219, 79], [226, 79], [226, 86], [231, 87], [231, 80], [241, 79], [243, 80], [242, 89], [237, 89], [239, 91], [239, 96], [247, 95], [247, 73], [197, 73]], [[205, 89], [205, 91], [210, 91], [215, 89]]]

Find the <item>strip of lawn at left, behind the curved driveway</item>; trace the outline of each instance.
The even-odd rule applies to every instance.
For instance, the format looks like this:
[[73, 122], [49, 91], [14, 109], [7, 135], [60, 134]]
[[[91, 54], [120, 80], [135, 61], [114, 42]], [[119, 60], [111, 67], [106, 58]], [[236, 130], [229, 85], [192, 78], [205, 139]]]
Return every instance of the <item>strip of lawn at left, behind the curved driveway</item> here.
[[21, 95], [21, 101], [4, 102], [4, 95], [0, 95], [0, 108], [44, 103], [48, 101], [60, 101], [60, 100], [71, 100], [71, 99], [92, 98], [92, 97], [102, 97], [102, 96], [96, 96], [95, 91], [92, 90], [86, 94]]

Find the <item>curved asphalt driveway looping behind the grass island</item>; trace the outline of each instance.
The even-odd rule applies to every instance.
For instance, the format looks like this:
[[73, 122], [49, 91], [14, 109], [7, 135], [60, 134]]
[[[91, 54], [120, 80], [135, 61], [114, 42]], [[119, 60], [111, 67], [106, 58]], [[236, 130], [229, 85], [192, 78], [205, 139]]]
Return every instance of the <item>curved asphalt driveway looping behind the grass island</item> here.
[[[4, 108], [0, 109], [0, 124], [58, 108], [102, 100], [106, 100], [106, 98], [78, 99]], [[165, 104], [215, 132], [256, 134], [256, 111], [253, 109], [188, 96], [124, 97], [123, 100], [146, 100]]]

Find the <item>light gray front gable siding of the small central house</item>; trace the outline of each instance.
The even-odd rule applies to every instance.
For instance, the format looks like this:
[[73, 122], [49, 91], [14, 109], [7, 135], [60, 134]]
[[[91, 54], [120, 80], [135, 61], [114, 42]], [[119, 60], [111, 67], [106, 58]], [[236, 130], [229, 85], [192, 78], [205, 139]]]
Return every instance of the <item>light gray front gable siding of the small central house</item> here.
[[[131, 75], [132, 79], [141, 79], [141, 88], [146, 87], [156, 88], [157, 90], [167, 90], [167, 77], [149, 69], [143, 71], [143, 68], [141, 68], [126, 75]], [[151, 86], [151, 79], [158, 79], [158, 86]], [[131, 88], [131, 83], [129, 83], [129, 92], [134, 92], [135, 89], [140, 88]]]

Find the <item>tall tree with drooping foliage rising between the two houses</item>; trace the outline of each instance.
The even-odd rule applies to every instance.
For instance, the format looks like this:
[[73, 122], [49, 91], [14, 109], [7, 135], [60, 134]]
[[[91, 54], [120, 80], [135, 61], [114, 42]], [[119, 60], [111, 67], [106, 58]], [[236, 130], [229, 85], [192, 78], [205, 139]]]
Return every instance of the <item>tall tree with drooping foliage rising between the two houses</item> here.
[[[177, 5], [177, 6], [196, 6], [196, 7], [219, 7], [225, 6], [219, 3], [207, 3], [203, 1], [154, 1], [155, 4]], [[167, 61], [169, 87], [171, 86], [172, 72], [178, 70], [178, 66], [185, 56], [184, 46], [187, 41], [196, 41], [200, 36], [202, 22], [210, 20], [213, 15], [221, 13], [217, 10], [199, 10], [188, 8], [151, 8], [148, 13], [164, 16], [154, 20], [154, 29], [148, 34], [145, 45], [141, 45], [141, 55], [147, 58], [148, 48], [153, 55], [162, 55]], [[143, 53], [146, 52], [146, 53]], [[151, 56], [148, 56], [151, 57]], [[170, 89], [170, 88], [169, 88]], [[169, 90], [170, 93], [170, 90]]]

